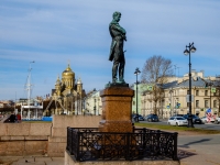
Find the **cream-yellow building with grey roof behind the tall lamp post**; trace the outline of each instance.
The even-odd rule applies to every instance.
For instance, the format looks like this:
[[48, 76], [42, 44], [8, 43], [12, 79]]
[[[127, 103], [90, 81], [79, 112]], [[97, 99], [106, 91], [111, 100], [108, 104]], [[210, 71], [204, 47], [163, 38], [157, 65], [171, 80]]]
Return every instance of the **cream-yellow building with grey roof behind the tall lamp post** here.
[[[161, 118], [169, 118], [174, 114], [189, 112], [188, 74], [182, 78], [169, 78], [168, 82], [163, 85], [163, 89], [162, 99], [155, 105], [152, 92], [142, 90], [140, 86], [140, 114], [147, 116], [156, 111]], [[191, 113], [204, 117], [206, 110], [211, 108], [212, 114], [220, 116], [219, 79], [217, 77], [204, 77], [204, 72], [191, 70]]]

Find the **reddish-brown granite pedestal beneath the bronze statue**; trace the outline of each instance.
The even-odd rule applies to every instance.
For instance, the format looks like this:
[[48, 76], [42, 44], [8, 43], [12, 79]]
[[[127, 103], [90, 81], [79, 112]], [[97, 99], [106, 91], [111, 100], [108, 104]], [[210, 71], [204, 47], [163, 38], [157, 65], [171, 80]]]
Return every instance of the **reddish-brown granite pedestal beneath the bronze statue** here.
[[134, 90], [123, 86], [108, 87], [100, 92], [102, 120], [100, 132], [133, 132], [131, 121]]

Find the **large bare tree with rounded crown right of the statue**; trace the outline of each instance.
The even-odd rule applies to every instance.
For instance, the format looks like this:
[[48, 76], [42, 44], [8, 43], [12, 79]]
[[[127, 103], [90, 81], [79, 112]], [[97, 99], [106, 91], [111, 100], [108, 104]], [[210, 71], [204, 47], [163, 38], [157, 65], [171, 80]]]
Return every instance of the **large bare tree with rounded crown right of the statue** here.
[[173, 75], [172, 61], [162, 57], [161, 55], [154, 55], [146, 59], [142, 69], [141, 81], [148, 84], [153, 88], [147, 92], [152, 96], [154, 113], [157, 113], [158, 102], [164, 100], [163, 85], [167, 82], [168, 77]]

